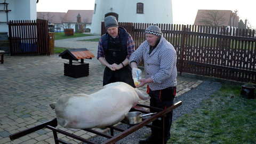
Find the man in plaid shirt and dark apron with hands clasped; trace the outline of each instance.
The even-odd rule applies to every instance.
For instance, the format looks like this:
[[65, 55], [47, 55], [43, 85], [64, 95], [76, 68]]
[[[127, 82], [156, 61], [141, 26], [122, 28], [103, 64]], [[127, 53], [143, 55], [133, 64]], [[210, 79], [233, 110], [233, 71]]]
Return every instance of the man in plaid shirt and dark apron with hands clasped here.
[[103, 85], [114, 82], [125, 82], [135, 87], [129, 59], [135, 51], [132, 36], [127, 31], [118, 27], [115, 17], [108, 16], [104, 19], [107, 33], [102, 35], [98, 45], [97, 59], [105, 65]]

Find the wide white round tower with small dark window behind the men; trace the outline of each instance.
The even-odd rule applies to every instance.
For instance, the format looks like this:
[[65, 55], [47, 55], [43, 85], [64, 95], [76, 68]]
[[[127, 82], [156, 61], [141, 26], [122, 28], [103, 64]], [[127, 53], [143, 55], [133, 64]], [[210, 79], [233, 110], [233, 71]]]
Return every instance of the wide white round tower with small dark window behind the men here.
[[91, 33], [101, 33], [105, 16], [118, 22], [172, 24], [172, 0], [95, 0]]

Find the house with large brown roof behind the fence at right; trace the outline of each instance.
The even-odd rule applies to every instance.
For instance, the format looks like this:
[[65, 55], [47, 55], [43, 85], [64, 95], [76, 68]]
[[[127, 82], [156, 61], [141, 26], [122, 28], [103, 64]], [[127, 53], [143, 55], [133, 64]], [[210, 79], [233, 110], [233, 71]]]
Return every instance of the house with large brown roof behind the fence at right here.
[[238, 16], [230, 10], [198, 10], [194, 25], [237, 28]]

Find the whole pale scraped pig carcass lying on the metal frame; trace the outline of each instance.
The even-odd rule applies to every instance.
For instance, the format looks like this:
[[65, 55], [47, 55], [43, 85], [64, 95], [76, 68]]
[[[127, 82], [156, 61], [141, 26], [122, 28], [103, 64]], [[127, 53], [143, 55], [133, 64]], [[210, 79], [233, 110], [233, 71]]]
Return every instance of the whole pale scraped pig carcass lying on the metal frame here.
[[149, 99], [146, 93], [116, 82], [87, 94], [65, 94], [50, 106], [55, 107], [58, 123], [66, 128], [102, 128], [121, 122], [124, 114], [137, 105], [139, 99]]

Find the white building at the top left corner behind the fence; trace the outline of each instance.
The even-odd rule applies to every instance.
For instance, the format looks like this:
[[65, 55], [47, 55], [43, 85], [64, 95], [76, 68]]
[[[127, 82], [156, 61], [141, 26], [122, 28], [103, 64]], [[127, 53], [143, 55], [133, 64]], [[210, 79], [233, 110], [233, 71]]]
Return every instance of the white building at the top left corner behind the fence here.
[[10, 20], [36, 20], [36, 1], [0, 0], [0, 32], [9, 33]]

